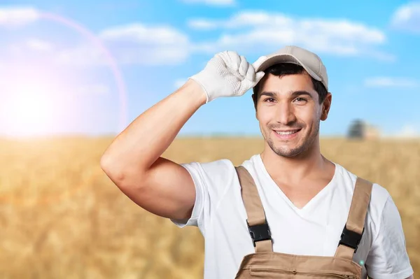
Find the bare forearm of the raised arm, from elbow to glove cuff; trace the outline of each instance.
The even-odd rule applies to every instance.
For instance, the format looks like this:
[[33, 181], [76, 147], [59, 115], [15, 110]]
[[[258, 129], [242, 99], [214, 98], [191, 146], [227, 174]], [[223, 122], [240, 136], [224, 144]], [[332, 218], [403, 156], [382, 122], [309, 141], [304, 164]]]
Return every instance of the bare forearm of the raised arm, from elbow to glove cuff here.
[[113, 140], [102, 156], [102, 168], [116, 173], [146, 172], [205, 102], [200, 85], [188, 80], [139, 115]]

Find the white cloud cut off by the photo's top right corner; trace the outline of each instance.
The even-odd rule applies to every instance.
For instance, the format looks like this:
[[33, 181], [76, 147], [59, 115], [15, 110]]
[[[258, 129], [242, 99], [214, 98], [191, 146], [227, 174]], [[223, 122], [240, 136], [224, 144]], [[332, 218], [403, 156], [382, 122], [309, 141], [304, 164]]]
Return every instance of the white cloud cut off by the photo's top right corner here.
[[420, 33], [420, 1], [400, 6], [391, 18], [395, 29]]

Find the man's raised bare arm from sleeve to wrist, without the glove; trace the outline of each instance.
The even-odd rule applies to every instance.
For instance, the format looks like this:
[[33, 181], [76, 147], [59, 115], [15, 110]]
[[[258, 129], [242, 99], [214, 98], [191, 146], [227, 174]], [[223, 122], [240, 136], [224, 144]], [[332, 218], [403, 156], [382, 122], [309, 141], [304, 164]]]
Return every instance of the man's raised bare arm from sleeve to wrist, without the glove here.
[[106, 149], [101, 167], [132, 201], [155, 215], [190, 217], [195, 186], [183, 166], [160, 157], [206, 103], [193, 80], [139, 115]]

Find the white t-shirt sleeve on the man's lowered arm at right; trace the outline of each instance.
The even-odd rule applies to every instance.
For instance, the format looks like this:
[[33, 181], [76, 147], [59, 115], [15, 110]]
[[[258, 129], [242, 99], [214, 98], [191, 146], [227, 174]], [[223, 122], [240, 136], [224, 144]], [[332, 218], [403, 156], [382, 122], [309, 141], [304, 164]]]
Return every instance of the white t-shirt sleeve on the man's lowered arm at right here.
[[398, 208], [388, 196], [381, 213], [377, 235], [365, 262], [370, 278], [404, 279], [413, 274], [405, 247], [405, 236]]

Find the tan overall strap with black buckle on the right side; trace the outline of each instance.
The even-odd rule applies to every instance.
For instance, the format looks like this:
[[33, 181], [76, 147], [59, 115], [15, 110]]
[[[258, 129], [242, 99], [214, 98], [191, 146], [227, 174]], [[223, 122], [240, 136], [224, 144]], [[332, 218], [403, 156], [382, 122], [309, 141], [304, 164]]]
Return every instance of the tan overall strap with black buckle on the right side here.
[[353, 259], [353, 255], [356, 253], [360, 239], [365, 231], [365, 217], [371, 193], [372, 183], [363, 178], [357, 178], [349, 217], [347, 217], [335, 257]]

